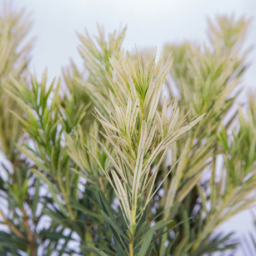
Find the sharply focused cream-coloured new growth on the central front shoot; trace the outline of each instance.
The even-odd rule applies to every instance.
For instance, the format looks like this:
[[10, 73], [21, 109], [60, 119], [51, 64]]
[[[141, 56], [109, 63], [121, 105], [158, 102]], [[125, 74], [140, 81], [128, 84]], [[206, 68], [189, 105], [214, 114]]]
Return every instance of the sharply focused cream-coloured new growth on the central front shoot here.
[[[141, 209], [145, 210], [159, 188], [155, 188], [154, 181], [170, 145], [202, 116], [189, 123], [185, 123], [184, 117], [178, 123], [177, 99], [168, 105], [166, 97], [162, 111], [157, 110], [161, 89], [172, 64], [170, 56], [163, 65], [163, 53], [157, 63], [155, 53], [150, 58], [120, 53], [118, 60], [112, 57], [110, 63], [113, 67], [112, 76], [108, 76], [111, 107], [105, 106], [109, 118], [95, 110], [105, 129], [101, 134], [114, 146], [115, 156], [98, 142], [114, 166], [111, 174], [109, 170], [104, 173], [119, 199], [127, 227], [134, 234]], [[167, 117], [169, 107], [171, 115]], [[150, 175], [154, 164], [154, 174]]]

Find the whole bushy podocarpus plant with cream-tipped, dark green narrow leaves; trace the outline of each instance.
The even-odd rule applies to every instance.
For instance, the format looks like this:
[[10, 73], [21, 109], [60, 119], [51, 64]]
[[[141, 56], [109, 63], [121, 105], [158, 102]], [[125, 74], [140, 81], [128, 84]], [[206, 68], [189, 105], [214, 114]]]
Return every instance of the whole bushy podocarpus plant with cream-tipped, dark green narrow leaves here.
[[21, 13], [0, 18], [1, 255], [235, 248], [215, 230], [254, 203], [253, 93], [247, 114], [232, 111], [248, 21], [218, 17], [209, 46], [166, 45], [158, 60], [99, 27], [78, 35], [86, 73], [71, 62], [48, 84], [28, 76]]

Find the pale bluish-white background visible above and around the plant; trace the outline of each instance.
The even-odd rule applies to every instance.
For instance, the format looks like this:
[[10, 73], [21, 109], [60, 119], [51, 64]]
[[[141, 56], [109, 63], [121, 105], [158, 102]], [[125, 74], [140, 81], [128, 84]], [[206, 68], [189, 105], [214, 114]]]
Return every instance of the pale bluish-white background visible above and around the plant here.
[[[5, 0], [0, 0], [0, 3]], [[8, 1], [7, 1], [8, 2]], [[31, 70], [38, 77], [47, 67], [48, 77], [61, 75], [61, 67], [68, 65], [72, 57], [78, 66], [82, 60], [77, 52], [79, 44], [75, 31], [97, 34], [96, 23], [104, 25], [106, 32], [127, 24], [124, 49], [157, 46], [160, 52], [166, 42], [184, 40], [205, 42], [206, 17], [216, 14], [235, 14], [235, 17], [253, 17], [256, 0], [13, 0], [17, 9], [25, 7], [32, 12], [36, 44], [32, 55]], [[0, 4], [1, 6], [1, 4]], [[253, 19], [247, 38], [247, 46], [256, 46], [256, 20]], [[254, 62], [245, 76], [244, 85], [256, 91], [256, 50], [249, 56]], [[252, 228], [247, 212], [223, 225], [225, 232], [238, 230], [243, 234]], [[241, 252], [237, 255], [242, 255]]]

